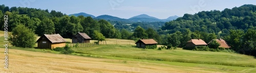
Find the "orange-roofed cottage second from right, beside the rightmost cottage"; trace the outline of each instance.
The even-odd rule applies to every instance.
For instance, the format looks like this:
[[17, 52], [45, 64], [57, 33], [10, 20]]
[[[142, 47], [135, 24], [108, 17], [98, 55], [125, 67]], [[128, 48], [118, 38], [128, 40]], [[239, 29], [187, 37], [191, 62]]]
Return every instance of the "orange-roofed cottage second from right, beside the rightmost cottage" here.
[[195, 47], [195, 46], [206, 46], [207, 43], [202, 39], [191, 39], [186, 43], [186, 47]]

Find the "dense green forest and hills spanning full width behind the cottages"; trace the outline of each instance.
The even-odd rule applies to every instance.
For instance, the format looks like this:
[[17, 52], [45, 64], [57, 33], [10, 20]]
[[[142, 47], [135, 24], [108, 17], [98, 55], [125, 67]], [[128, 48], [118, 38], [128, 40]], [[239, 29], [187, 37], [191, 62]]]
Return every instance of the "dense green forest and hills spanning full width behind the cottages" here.
[[[0, 5], [0, 23], [8, 15], [8, 31], [18, 25], [24, 25], [38, 36], [60, 34], [71, 38], [77, 32], [87, 33], [94, 39], [93, 32], [103, 34], [105, 38], [133, 39], [153, 38], [159, 44], [184, 47], [190, 39], [203, 39], [206, 43], [212, 39], [226, 40], [234, 51], [256, 50], [256, 6], [243, 5], [223, 11], [202, 11], [196, 14], [184, 14], [169, 22], [107, 21], [84, 16], [68, 16], [59, 11], [35, 8], [11, 7]], [[113, 26], [116, 23], [116, 26]], [[113, 25], [112, 25], [113, 24]], [[0, 25], [4, 27], [4, 25]], [[3, 30], [3, 29], [1, 29]], [[242, 49], [243, 48], [243, 49]], [[249, 48], [244, 50], [245, 48]]]

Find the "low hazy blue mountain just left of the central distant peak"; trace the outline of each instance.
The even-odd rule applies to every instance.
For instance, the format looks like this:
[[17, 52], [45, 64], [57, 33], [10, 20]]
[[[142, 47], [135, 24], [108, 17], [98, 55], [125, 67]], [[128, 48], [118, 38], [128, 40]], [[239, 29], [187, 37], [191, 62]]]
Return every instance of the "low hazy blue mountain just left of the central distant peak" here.
[[95, 19], [104, 19], [109, 21], [122, 21], [122, 22], [129, 22], [129, 23], [132, 22], [131, 20], [119, 18], [111, 15], [100, 15], [100, 16], [97, 16]]

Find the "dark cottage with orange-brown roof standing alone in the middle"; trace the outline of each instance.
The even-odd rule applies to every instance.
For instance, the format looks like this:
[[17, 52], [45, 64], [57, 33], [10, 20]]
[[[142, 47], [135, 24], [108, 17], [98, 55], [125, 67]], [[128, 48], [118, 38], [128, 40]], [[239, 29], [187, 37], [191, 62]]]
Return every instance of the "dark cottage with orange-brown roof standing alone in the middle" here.
[[135, 44], [137, 47], [145, 48], [146, 45], [155, 45], [157, 43], [154, 39], [140, 39]]

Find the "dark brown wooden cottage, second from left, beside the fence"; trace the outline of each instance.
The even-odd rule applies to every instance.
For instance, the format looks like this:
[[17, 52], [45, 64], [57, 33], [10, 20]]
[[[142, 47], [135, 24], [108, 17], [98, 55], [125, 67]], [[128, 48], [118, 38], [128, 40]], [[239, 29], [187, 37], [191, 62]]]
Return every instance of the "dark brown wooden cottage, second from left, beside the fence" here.
[[86, 33], [77, 33], [72, 38], [72, 43], [90, 43], [91, 39]]

